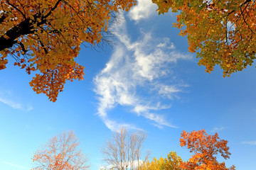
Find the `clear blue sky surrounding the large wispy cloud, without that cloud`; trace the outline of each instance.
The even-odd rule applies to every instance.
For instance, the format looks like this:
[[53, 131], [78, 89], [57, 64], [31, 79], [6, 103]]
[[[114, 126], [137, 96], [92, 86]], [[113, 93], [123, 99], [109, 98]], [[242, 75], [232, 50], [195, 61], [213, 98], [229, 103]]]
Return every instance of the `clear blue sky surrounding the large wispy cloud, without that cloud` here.
[[[150, 11], [149, 16], [145, 15], [137, 22], [125, 14], [125, 27], [131, 41], [139, 41], [143, 33], [150, 32], [152, 37], [160, 41], [169, 38], [176, 52], [189, 55], [186, 38], [178, 36], [178, 29], [172, 27], [176, 17], [171, 13], [157, 16], [154, 12], [156, 7], [152, 8], [154, 10]], [[156, 40], [154, 38], [151, 40]], [[122, 44], [118, 38], [116, 41]], [[67, 82], [55, 103], [48, 101], [45, 95], [33, 92], [28, 84], [32, 75], [14, 67], [10, 59], [7, 68], [0, 72], [0, 169], [31, 169], [33, 152], [50, 137], [65, 130], [75, 132], [83, 153], [90, 159], [91, 169], [100, 169], [100, 147], [104, 146], [112, 132], [97, 115], [100, 101], [97, 99], [99, 95], [95, 94], [97, 84], [93, 80], [118, 47], [105, 47], [105, 51], [101, 52], [82, 47], [77, 61], [85, 66], [84, 80]], [[237, 169], [254, 170], [255, 67], [248, 67], [224, 79], [218, 67], [208, 74], [204, 67], [198, 66], [196, 55], [190, 55], [192, 59], [177, 60], [170, 67], [170, 77], [176, 77], [178, 82], [187, 86], [182, 87], [181, 92], [172, 99], [156, 97], [157, 102], [171, 105], [171, 108], [159, 109], [154, 113], [164, 115], [171, 125], [178, 128], [157, 128], [151, 120], [132, 113], [132, 106], [118, 103], [107, 114], [119, 123], [131, 123], [146, 130], [148, 137], [144, 149], [151, 150], [151, 159], [166, 157], [169, 152], [175, 151], [183, 160], [188, 160], [191, 153], [179, 146], [181, 132], [204, 128], [210, 135], [218, 132], [221, 139], [228, 140], [232, 153], [230, 159], [225, 161], [228, 166], [235, 164]], [[176, 81], [171, 79], [160, 77], [156, 83], [174, 84]], [[143, 89], [144, 86], [137, 86], [136, 95], [144, 100], [156, 95], [154, 91]], [[221, 158], [219, 160], [223, 161]]]

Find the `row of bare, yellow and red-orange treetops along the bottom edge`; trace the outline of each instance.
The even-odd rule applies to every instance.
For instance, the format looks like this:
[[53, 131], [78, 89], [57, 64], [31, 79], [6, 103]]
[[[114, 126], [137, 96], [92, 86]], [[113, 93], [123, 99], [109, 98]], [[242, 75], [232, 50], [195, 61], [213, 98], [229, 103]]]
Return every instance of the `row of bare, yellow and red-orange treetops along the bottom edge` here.
[[[180, 138], [181, 147], [186, 147], [193, 155], [187, 162], [171, 151], [166, 158], [154, 158], [149, 162], [149, 152], [142, 154], [146, 132], [129, 131], [125, 128], [112, 133], [102, 147], [104, 168], [102, 170], [235, 170], [227, 168], [225, 162], [218, 162], [217, 156], [230, 158], [227, 140], [220, 140], [218, 133], [208, 135], [205, 130], [186, 132]], [[87, 170], [87, 157], [78, 148], [78, 138], [73, 131], [63, 132], [51, 138], [33, 155], [32, 170]]]

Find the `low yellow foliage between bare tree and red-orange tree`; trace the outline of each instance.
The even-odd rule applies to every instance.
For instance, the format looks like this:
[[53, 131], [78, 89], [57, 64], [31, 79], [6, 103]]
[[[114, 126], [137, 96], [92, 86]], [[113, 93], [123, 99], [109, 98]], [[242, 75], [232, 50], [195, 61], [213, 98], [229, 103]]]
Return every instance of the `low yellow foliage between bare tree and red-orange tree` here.
[[182, 162], [181, 157], [178, 157], [176, 152], [170, 152], [167, 158], [154, 158], [151, 162], [147, 161], [142, 165], [140, 170], [181, 170], [179, 167]]

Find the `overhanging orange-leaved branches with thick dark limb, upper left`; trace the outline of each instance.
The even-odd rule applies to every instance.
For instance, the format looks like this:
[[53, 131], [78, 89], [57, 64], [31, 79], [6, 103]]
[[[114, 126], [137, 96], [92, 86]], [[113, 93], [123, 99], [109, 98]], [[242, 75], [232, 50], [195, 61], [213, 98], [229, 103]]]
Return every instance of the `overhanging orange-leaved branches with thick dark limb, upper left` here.
[[0, 0], [0, 69], [14, 57], [28, 74], [30, 85], [56, 101], [65, 81], [82, 79], [74, 61], [80, 45], [95, 46], [119, 10], [135, 0]]

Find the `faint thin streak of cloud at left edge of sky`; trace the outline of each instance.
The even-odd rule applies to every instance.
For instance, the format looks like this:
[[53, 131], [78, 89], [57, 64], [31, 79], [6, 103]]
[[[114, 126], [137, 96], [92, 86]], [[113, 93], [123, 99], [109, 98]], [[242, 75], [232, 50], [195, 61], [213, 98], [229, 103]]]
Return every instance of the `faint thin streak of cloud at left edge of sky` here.
[[11, 108], [22, 110], [22, 111], [31, 111], [33, 110], [33, 107], [31, 105], [24, 105], [23, 103], [20, 103], [18, 101], [15, 101], [14, 95], [11, 93], [11, 91], [1, 91], [0, 93], [0, 102], [4, 103]]

